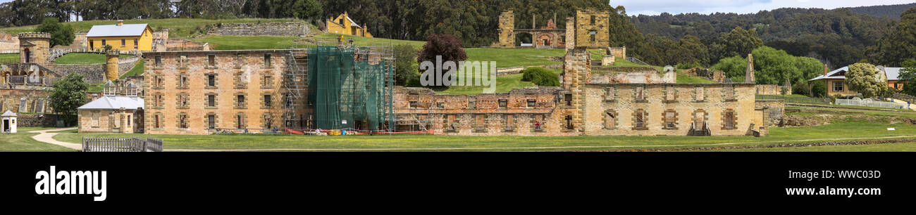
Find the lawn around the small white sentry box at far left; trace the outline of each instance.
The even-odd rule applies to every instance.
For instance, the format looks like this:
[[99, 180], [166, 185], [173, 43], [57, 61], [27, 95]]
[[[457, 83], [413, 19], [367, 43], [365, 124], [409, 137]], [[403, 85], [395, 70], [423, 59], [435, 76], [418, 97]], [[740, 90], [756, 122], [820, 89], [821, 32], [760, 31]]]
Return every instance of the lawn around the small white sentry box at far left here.
[[17, 128], [16, 134], [0, 134], [0, 152], [74, 152], [76, 150], [60, 146], [38, 142], [31, 136], [36, 135], [28, 133], [29, 131], [54, 129], [41, 127], [20, 127]]

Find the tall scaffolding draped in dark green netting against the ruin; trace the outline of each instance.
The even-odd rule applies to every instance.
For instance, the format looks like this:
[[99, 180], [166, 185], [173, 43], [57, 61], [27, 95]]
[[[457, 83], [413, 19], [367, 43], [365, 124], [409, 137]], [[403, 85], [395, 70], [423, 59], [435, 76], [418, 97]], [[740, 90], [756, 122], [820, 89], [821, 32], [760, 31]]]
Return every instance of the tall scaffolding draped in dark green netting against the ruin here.
[[308, 48], [310, 128], [393, 131], [393, 49], [390, 43], [359, 47], [352, 39]]

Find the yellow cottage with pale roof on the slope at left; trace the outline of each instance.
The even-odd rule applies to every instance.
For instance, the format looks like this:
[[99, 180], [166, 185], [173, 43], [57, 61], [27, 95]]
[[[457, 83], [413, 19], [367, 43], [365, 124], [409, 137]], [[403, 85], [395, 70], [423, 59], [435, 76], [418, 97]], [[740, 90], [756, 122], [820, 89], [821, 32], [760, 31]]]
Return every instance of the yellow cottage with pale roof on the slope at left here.
[[147, 24], [124, 24], [93, 26], [86, 34], [88, 48], [104, 49], [106, 45], [118, 50], [153, 50], [153, 28]]

